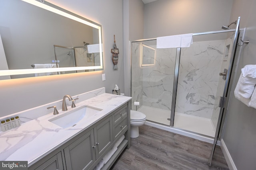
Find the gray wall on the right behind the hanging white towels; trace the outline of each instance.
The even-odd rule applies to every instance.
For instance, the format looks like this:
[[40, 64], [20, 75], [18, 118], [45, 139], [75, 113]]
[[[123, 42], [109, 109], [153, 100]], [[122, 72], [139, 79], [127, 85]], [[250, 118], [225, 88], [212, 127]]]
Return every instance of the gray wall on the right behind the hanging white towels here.
[[[234, 0], [230, 22], [241, 16], [240, 27], [246, 27], [244, 40], [250, 40], [242, 46], [242, 53], [236, 74], [236, 83], [241, 68], [247, 64], [256, 64], [256, 1]], [[247, 107], [234, 98], [232, 92], [230, 108], [226, 118], [223, 141], [238, 170], [256, 169], [256, 109]]]

